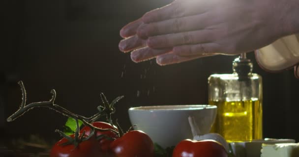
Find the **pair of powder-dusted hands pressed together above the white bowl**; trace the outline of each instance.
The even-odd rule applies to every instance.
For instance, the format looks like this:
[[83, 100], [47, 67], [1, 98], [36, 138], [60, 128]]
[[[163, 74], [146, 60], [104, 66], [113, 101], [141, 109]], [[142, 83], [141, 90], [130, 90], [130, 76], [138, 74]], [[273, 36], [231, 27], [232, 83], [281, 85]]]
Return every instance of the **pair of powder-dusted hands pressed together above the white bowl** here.
[[157, 57], [160, 65], [250, 52], [287, 35], [287, 25], [280, 25], [287, 8], [283, 3], [286, 1], [176, 0], [123, 27], [120, 50], [134, 50], [131, 58], [135, 62]]

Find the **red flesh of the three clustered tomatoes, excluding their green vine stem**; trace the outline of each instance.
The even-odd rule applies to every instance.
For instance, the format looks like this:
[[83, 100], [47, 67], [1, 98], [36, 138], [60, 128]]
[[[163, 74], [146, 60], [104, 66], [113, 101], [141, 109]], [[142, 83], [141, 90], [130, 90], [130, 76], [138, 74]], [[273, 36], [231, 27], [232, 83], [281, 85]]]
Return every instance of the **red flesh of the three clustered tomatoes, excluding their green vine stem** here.
[[[118, 129], [109, 123], [94, 122], [92, 126], [100, 129]], [[90, 135], [92, 129], [83, 127], [80, 134]], [[102, 136], [96, 140], [96, 137]], [[74, 135], [71, 135], [74, 137]], [[96, 136], [79, 143], [77, 147], [73, 144], [63, 145], [67, 139], [62, 138], [57, 142], [50, 157], [153, 157], [154, 145], [150, 137], [143, 131], [128, 131], [119, 137], [113, 131], [96, 131]]]

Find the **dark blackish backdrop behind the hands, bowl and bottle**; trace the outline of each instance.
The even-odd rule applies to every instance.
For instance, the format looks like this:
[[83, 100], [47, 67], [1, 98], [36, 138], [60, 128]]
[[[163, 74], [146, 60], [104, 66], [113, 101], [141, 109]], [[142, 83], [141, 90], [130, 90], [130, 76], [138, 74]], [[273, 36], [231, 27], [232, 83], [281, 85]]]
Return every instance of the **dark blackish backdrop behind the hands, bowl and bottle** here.
[[[100, 103], [124, 95], [115, 118], [129, 128], [127, 109], [140, 105], [207, 104], [211, 74], [232, 73], [237, 56], [213, 56], [158, 66], [155, 60], [133, 63], [119, 51], [119, 30], [147, 11], [171, 0], [3, 0], [0, 47], [1, 138], [40, 134], [60, 138], [66, 118], [45, 108], [30, 110], [7, 123], [21, 103], [17, 84], [23, 80], [28, 103], [48, 101], [90, 116]], [[259, 40], [259, 39], [256, 39]], [[259, 68], [263, 77], [264, 137], [299, 141], [299, 80], [293, 70], [276, 74]], [[148, 94], [149, 92], [149, 94]], [[139, 94], [138, 94], [139, 93]], [[179, 124], [178, 124], [179, 125]]]

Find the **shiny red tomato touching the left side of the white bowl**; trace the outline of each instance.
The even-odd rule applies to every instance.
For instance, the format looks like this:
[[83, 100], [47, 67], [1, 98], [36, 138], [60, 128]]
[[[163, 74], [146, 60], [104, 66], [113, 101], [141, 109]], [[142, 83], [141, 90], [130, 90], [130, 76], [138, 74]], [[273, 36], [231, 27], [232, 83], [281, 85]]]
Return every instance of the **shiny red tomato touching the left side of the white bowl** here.
[[143, 131], [129, 131], [110, 144], [115, 157], [153, 157], [153, 142]]

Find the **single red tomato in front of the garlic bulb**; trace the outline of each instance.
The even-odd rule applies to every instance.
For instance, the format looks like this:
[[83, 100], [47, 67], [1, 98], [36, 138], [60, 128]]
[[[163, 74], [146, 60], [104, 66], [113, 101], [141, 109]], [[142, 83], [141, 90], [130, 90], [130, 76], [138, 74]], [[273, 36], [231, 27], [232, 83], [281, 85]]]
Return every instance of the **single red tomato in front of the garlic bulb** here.
[[183, 140], [175, 147], [172, 157], [228, 157], [224, 147], [214, 140]]

